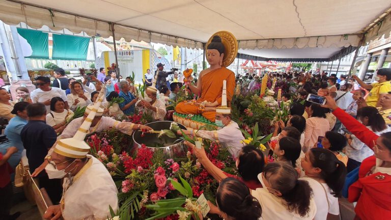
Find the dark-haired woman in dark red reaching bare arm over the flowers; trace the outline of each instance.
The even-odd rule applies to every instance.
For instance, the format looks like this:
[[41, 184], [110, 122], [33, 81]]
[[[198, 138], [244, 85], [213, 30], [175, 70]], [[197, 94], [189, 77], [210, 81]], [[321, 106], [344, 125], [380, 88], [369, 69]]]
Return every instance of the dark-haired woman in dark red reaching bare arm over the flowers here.
[[261, 150], [255, 148], [254, 146], [244, 146], [238, 153], [236, 167], [238, 168], [238, 173], [240, 174], [239, 177], [226, 173], [216, 167], [209, 160], [204, 147], [199, 149], [188, 141], [185, 141], [184, 144], [193, 149], [195, 156], [198, 158], [198, 161], [218, 182], [221, 182], [221, 180], [227, 177], [234, 177], [243, 182], [251, 190], [262, 188], [262, 184], [258, 179], [258, 174], [263, 172], [263, 168], [265, 166], [265, 156]]

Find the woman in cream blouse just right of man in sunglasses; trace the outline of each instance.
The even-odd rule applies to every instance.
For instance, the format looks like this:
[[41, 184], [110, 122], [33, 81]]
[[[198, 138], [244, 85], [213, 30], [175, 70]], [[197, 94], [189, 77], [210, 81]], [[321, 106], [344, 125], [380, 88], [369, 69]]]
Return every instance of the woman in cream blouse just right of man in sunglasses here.
[[67, 96], [68, 103], [71, 105], [71, 110], [76, 110], [77, 107], [85, 107], [90, 104], [91, 96], [90, 93], [83, 90], [83, 87], [80, 82], [72, 82], [71, 84], [71, 93]]

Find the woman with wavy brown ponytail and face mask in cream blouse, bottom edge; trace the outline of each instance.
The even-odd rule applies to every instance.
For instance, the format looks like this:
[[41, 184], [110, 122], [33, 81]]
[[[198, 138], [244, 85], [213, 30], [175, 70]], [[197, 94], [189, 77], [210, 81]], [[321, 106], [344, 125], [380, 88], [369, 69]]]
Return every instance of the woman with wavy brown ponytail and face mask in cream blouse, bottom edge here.
[[263, 188], [251, 194], [262, 206], [264, 220], [312, 220], [316, 204], [310, 185], [298, 179], [297, 171], [288, 163], [267, 164], [258, 175]]

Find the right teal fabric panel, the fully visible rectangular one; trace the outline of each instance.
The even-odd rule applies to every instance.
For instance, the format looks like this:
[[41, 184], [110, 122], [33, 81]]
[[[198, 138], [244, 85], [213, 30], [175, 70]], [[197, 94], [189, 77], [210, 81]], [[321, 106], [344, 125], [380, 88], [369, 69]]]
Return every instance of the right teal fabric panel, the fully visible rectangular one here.
[[52, 59], [86, 60], [90, 38], [53, 34]]

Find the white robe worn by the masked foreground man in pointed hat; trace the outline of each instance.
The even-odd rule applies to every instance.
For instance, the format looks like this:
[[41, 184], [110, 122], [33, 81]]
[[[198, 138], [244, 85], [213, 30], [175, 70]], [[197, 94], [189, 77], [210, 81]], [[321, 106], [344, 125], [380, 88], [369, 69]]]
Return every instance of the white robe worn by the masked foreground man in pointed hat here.
[[104, 165], [88, 155], [87, 164], [73, 177], [64, 178], [61, 211], [66, 220], [103, 220], [118, 210], [118, 191]]

